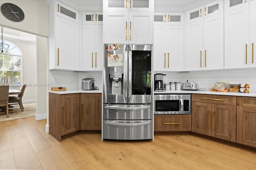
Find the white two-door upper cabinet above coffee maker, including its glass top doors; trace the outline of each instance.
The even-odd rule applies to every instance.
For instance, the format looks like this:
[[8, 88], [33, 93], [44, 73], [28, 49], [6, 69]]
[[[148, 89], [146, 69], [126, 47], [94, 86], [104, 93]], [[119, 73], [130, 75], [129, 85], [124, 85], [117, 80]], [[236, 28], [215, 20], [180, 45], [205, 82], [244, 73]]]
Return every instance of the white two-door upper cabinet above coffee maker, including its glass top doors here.
[[[167, 17], [166, 17], [167, 16]], [[174, 16], [174, 17], [170, 17]], [[184, 13], [155, 12], [154, 70], [184, 70]]]

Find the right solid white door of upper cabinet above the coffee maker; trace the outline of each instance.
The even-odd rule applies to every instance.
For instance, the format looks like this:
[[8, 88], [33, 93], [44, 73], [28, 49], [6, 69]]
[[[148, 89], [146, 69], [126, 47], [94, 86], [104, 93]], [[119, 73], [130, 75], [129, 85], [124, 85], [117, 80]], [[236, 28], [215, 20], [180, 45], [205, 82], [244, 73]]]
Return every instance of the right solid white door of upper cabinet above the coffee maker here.
[[167, 25], [167, 70], [184, 70], [184, 25]]

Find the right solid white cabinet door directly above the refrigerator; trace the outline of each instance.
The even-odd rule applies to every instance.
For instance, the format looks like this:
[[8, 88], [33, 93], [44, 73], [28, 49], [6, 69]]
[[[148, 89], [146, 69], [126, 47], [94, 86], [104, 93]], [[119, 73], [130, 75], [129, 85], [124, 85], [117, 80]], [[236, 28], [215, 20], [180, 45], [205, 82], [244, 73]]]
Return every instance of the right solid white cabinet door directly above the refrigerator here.
[[129, 12], [129, 44], [153, 44], [153, 15]]

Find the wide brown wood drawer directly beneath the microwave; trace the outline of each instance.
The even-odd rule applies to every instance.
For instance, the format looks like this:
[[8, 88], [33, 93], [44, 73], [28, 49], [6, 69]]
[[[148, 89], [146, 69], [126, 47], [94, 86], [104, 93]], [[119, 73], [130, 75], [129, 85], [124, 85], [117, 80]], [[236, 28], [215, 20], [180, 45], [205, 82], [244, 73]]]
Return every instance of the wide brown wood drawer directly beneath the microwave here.
[[191, 131], [191, 115], [154, 115], [154, 131]]

